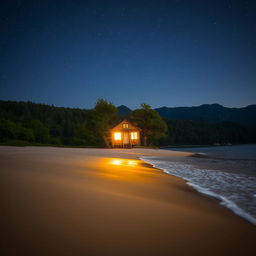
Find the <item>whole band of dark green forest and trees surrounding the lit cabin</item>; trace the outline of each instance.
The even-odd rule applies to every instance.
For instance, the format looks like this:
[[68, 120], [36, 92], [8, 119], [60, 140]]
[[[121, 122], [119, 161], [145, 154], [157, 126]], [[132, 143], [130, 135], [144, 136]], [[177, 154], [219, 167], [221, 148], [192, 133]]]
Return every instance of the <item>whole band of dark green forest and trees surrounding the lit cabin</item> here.
[[[256, 143], [255, 127], [232, 122], [162, 119], [146, 104], [142, 104], [141, 110], [149, 111], [143, 117], [148, 122], [143, 125], [151, 125], [146, 127], [150, 146]], [[140, 126], [143, 111], [134, 110], [125, 118]], [[155, 119], [150, 120], [151, 117]], [[0, 101], [0, 144], [105, 147], [108, 130], [123, 118], [105, 100], [98, 100], [93, 109]]]

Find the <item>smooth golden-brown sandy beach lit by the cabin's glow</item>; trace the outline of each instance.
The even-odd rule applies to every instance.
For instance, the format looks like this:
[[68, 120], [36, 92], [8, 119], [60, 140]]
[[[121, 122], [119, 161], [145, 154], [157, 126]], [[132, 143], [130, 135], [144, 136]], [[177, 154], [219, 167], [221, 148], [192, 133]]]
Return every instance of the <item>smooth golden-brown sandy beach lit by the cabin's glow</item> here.
[[190, 154], [0, 147], [1, 255], [253, 255], [255, 226], [139, 160]]

